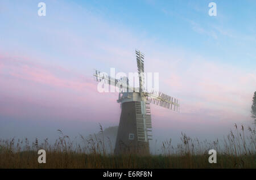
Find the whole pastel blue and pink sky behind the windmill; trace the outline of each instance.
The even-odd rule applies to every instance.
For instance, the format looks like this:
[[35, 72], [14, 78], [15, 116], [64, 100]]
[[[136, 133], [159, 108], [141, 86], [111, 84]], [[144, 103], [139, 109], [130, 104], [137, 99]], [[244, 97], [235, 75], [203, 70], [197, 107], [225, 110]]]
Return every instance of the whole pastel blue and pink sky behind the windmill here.
[[98, 92], [93, 72], [136, 72], [135, 49], [146, 72], [159, 72], [159, 90], [180, 100], [180, 113], [151, 105], [154, 139], [251, 126], [255, 9], [253, 0], [0, 1], [0, 139], [118, 126], [118, 93]]

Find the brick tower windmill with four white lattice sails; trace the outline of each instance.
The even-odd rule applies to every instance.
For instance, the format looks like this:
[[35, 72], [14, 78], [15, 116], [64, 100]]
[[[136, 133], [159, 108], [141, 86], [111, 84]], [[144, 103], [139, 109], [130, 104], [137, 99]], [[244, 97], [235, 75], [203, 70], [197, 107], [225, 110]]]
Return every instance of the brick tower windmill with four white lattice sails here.
[[115, 79], [96, 70], [94, 76], [98, 82], [119, 88], [117, 102], [121, 104], [121, 116], [118, 126], [114, 153], [150, 153], [149, 140], [152, 140], [150, 103], [179, 112], [179, 100], [158, 91], [147, 92], [144, 87], [144, 54], [135, 50], [139, 87], [131, 87], [129, 79]]

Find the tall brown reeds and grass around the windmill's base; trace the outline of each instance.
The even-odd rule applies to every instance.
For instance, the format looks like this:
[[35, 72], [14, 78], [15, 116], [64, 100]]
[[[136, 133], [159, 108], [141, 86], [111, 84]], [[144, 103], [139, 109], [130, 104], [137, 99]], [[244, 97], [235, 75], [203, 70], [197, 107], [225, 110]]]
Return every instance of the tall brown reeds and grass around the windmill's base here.
[[[245, 135], [247, 131], [247, 135]], [[60, 131], [61, 132], [61, 131]], [[175, 147], [162, 143], [160, 155], [113, 155], [108, 137], [81, 136], [82, 144], [62, 134], [55, 144], [48, 139], [32, 144], [27, 139], [0, 141], [0, 168], [256, 168], [255, 130], [243, 126], [222, 140], [200, 142], [182, 134]], [[46, 150], [46, 164], [38, 163], [38, 149]], [[107, 150], [108, 149], [108, 150]], [[217, 151], [217, 163], [208, 162], [209, 149]]]

